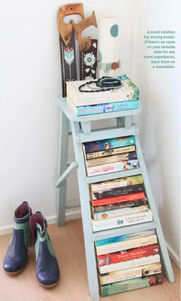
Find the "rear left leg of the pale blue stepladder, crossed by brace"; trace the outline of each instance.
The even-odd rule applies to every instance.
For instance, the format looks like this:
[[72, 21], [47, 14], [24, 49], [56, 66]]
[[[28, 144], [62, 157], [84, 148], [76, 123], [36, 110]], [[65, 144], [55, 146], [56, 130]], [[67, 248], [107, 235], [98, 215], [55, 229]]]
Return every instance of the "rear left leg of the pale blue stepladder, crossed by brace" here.
[[[60, 177], [67, 169], [68, 165], [68, 146], [69, 146], [69, 124], [70, 120], [61, 110], [60, 113], [60, 146], [59, 146], [59, 171]], [[58, 188], [58, 206], [57, 206], [57, 224], [58, 226], [65, 225], [66, 215], [66, 190], [67, 180], [63, 181]]]

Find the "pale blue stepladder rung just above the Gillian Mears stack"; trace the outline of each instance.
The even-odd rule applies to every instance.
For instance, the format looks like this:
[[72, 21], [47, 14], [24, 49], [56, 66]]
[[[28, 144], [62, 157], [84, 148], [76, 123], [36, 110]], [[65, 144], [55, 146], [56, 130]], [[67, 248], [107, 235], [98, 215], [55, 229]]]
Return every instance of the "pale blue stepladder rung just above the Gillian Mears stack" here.
[[108, 174], [102, 174], [102, 175], [98, 175], [98, 176], [86, 177], [85, 183], [92, 184], [92, 183], [98, 183], [98, 182], [103, 182], [103, 181], [108, 181], [108, 180], [113, 180], [113, 179], [118, 179], [118, 178], [136, 176], [136, 175], [140, 175], [140, 174], [142, 174], [141, 168], [133, 168], [133, 169], [128, 169], [128, 170], [111, 172]]

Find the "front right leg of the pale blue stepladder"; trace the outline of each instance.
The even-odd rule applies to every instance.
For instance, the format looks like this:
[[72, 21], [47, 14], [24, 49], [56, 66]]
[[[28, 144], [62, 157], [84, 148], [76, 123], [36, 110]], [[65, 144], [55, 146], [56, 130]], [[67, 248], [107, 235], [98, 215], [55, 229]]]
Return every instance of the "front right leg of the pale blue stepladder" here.
[[160, 252], [160, 257], [161, 257], [161, 263], [162, 263], [162, 266], [164, 269], [165, 276], [167, 277], [169, 282], [173, 283], [173, 282], [175, 282], [174, 272], [172, 269], [169, 253], [168, 253], [167, 246], [165, 243], [165, 239], [164, 239], [160, 219], [158, 216], [156, 204], [155, 204], [152, 190], [150, 187], [150, 183], [149, 183], [149, 179], [148, 179], [148, 175], [147, 175], [147, 171], [146, 171], [146, 167], [145, 167], [145, 160], [143, 157], [143, 153], [141, 150], [141, 145], [140, 145], [140, 141], [139, 141], [138, 137], [136, 137], [136, 147], [137, 147], [137, 155], [139, 158], [139, 164], [140, 164], [140, 167], [142, 168], [142, 175], [143, 175], [143, 179], [144, 179], [147, 199], [149, 201], [150, 209], [153, 213], [153, 220], [154, 220], [154, 222], [156, 222], [156, 225], [157, 225], [156, 233], [157, 233], [157, 238], [158, 238], [158, 243], [159, 243], [159, 252]]

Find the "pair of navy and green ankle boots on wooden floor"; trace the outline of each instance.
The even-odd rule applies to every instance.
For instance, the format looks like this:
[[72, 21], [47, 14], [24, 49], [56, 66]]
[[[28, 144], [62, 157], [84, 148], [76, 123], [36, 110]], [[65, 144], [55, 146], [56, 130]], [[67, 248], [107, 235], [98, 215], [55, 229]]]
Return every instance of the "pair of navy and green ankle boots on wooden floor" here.
[[36, 252], [38, 282], [46, 288], [55, 286], [60, 271], [47, 233], [46, 219], [39, 211], [33, 214], [28, 202], [24, 201], [14, 213], [13, 236], [3, 261], [6, 273], [17, 275], [25, 268], [31, 242]]

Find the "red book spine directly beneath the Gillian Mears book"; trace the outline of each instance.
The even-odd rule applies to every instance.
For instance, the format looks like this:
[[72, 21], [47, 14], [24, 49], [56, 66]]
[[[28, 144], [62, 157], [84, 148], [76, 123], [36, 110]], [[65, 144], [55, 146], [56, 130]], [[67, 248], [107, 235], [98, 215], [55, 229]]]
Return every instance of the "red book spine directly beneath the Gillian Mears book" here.
[[137, 194], [132, 194], [132, 195], [123, 195], [119, 197], [101, 199], [101, 200], [91, 200], [91, 203], [93, 206], [101, 206], [101, 205], [109, 205], [113, 203], [120, 203], [123, 201], [136, 201], [142, 199], [145, 199], [144, 192], [139, 192]]

